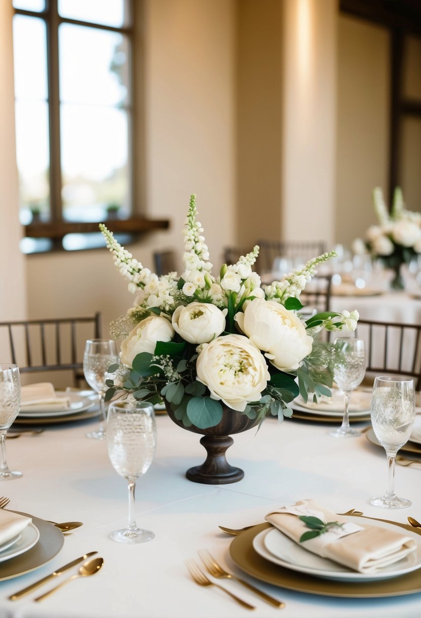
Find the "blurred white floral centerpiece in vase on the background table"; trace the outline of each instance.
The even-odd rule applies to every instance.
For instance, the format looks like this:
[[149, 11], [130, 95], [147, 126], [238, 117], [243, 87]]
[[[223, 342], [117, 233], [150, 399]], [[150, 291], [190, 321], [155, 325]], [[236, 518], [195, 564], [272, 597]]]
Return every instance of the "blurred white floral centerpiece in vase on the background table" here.
[[406, 210], [401, 188], [396, 187], [389, 212], [380, 187], [373, 190], [373, 204], [378, 225], [370, 226], [365, 238], [352, 244], [355, 253], [369, 252], [394, 271], [391, 287], [403, 289], [400, 269], [421, 253], [421, 213]]

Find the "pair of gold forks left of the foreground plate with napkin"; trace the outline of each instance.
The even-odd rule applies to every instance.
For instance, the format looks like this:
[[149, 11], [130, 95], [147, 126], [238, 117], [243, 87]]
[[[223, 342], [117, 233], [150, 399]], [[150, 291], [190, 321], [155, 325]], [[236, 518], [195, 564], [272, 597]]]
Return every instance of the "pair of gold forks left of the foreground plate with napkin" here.
[[[279, 607], [280, 609], [285, 607], [285, 603], [283, 603], [282, 601], [275, 599], [273, 596], [267, 595], [262, 590], [259, 590], [259, 588], [256, 588], [256, 586], [253, 586], [251, 583], [246, 582], [240, 577], [236, 577], [236, 575], [233, 575], [227, 570], [223, 569], [223, 567], [214, 559], [214, 557], [212, 557], [212, 555], [209, 553], [209, 551], [207, 551], [207, 549], [199, 549], [198, 554], [204, 564], [204, 567], [206, 568], [209, 575], [211, 575], [211, 577], [214, 577], [215, 579], [227, 578], [235, 580], [236, 582], [241, 583], [241, 585], [243, 585], [245, 588], [248, 588], [248, 590], [251, 590], [255, 595], [266, 601], [266, 603], [270, 603], [272, 606]], [[187, 560], [186, 567], [190, 571], [191, 577], [193, 577], [194, 582], [196, 582], [199, 586], [217, 586], [217, 588], [220, 588], [220, 590], [223, 590], [225, 593], [227, 593], [227, 595], [230, 595], [233, 599], [235, 599], [237, 603], [240, 603], [241, 606], [246, 607], [247, 609], [256, 609], [256, 607], [250, 605], [249, 603], [246, 603], [246, 601], [243, 601], [243, 599], [240, 599], [240, 597], [233, 595], [233, 593], [227, 590], [227, 588], [223, 588], [223, 586], [220, 586], [218, 583], [210, 580], [209, 577], [207, 577], [207, 575], [205, 575], [204, 572], [201, 570], [199, 565], [194, 562], [194, 560]]]

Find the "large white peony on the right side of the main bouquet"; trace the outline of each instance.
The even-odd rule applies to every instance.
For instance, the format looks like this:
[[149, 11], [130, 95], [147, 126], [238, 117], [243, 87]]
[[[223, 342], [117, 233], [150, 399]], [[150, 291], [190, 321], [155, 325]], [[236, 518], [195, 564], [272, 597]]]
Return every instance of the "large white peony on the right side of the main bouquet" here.
[[263, 350], [265, 357], [281, 371], [298, 369], [312, 350], [313, 338], [292, 312], [272, 300], [254, 298], [235, 320], [249, 339]]

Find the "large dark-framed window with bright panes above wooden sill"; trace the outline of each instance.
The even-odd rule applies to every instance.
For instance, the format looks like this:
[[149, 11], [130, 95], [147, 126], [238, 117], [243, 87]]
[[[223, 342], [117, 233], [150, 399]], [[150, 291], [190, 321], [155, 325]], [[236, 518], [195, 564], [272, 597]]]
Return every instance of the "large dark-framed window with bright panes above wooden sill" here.
[[[13, 0], [13, 6], [22, 224], [51, 232], [54, 224], [71, 229], [63, 224], [127, 219], [131, 0]], [[80, 248], [83, 240], [51, 232], [45, 241], [57, 238], [64, 248]]]

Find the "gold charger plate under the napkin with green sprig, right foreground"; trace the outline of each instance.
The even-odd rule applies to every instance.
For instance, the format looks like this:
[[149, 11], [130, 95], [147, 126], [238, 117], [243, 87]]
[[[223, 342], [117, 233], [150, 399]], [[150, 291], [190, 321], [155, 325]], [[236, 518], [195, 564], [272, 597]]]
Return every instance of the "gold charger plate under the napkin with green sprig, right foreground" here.
[[[361, 517], [358, 519], [373, 519]], [[385, 520], [382, 520], [385, 521]], [[388, 520], [386, 520], [388, 521]], [[404, 523], [389, 522], [406, 530], [421, 534], [418, 528], [412, 528]], [[421, 592], [420, 570], [412, 571], [393, 579], [378, 580], [376, 582], [339, 582], [325, 580], [284, 569], [259, 556], [253, 548], [253, 539], [262, 530], [270, 528], [270, 523], [261, 523], [235, 536], [230, 544], [230, 555], [233, 561], [248, 575], [256, 577], [262, 582], [271, 583], [288, 590], [306, 592], [312, 595], [340, 596], [350, 598], [375, 598], [381, 596], [413, 595]]]

